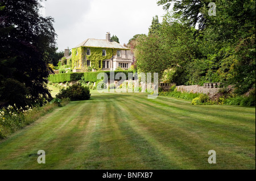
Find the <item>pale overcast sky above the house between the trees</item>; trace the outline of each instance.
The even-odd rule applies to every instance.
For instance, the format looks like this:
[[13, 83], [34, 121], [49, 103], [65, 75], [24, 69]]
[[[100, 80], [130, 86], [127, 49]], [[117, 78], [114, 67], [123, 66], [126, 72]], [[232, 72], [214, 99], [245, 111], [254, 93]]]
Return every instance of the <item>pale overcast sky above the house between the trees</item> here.
[[82, 41], [105, 39], [106, 32], [128, 43], [136, 34], [148, 33], [153, 16], [162, 22], [165, 11], [157, 0], [47, 0], [44, 14], [55, 19], [59, 50]]

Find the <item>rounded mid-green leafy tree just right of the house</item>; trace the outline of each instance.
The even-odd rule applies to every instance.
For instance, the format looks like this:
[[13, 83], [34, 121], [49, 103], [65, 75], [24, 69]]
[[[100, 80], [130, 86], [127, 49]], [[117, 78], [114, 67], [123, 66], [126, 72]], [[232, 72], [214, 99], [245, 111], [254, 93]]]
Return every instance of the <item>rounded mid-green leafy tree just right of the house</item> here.
[[138, 70], [157, 72], [161, 79], [164, 70], [172, 69], [179, 72], [172, 81], [178, 85], [184, 84], [187, 64], [197, 54], [197, 42], [193, 38], [195, 31], [195, 28], [175, 21], [170, 14], [166, 14], [157, 33], [149, 33], [147, 37], [138, 39], [135, 48]]

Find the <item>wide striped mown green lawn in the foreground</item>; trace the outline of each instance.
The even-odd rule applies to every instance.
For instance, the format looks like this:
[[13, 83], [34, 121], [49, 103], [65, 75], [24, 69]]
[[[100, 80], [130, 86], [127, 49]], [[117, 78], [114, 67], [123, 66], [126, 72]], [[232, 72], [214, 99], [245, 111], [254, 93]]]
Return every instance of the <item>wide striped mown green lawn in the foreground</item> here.
[[255, 107], [93, 91], [1, 141], [0, 169], [255, 169]]

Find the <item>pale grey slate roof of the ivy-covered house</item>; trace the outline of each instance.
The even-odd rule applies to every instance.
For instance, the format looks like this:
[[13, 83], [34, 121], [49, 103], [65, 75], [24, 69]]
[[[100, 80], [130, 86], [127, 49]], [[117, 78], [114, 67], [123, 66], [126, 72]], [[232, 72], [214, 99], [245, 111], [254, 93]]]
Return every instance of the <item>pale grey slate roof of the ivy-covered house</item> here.
[[100, 47], [100, 48], [115, 48], [115, 49], [127, 49], [127, 50], [129, 49], [115, 41], [109, 42], [108, 40], [99, 40], [99, 39], [87, 39], [74, 48], [79, 48], [79, 47]]

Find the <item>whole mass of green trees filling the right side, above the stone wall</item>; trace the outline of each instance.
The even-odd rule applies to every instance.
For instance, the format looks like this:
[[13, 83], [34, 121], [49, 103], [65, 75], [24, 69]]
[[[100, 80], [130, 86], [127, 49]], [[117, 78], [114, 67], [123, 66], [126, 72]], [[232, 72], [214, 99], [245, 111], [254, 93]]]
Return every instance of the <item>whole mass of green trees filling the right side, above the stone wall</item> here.
[[167, 14], [137, 41], [138, 69], [177, 85], [222, 82], [244, 94], [255, 88], [255, 1], [216, 1], [216, 16], [209, 2], [159, 0]]

